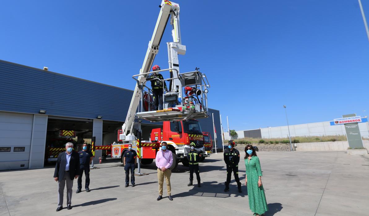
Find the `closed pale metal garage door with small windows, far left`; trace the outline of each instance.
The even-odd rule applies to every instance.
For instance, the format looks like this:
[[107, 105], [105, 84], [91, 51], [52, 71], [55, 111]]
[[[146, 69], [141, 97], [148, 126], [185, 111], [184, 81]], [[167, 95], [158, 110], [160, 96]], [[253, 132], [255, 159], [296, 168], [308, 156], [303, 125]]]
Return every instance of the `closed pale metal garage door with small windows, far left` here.
[[33, 116], [0, 112], [0, 170], [28, 168]]

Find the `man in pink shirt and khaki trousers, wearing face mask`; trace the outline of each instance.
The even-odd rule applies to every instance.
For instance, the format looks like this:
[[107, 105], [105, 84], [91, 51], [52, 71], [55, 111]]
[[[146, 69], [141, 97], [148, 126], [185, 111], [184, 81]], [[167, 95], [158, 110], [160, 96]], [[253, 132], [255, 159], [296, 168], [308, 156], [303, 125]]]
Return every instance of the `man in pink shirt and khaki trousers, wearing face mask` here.
[[167, 143], [162, 142], [162, 149], [156, 153], [155, 164], [158, 167], [158, 181], [159, 181], [159, 196], [157, 201], [163, 198], [163, 182], [165, 176], [166, 182], [166, 190], [168, 191], [168, 198], [170, 201], [173, 200], [170, 195], [170, 175], [172, 171], [170, 171], [170, 166], [173, 164], [173, 155], [172, 151], [167, 149]]

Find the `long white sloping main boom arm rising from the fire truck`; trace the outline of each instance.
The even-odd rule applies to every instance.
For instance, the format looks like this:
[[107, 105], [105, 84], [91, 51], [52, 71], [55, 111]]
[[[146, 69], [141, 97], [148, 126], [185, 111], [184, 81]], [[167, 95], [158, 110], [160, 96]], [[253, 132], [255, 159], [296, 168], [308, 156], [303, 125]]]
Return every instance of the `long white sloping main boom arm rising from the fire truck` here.
[[[127, 117], [122, 126], [123, 136], [120, 137], [120, 139], [122, 140], [125, 139], [125, 135], [128, 134], [128, 131], [130, 131], [131, 137], [133, 136], [134, 118], [135, 118], [135, 113], [137, 111], [137, 108], [140, 102], [140, 94], [141, 94], [139, 85], [140, 83], [144, 83], [146, 81], [146, 76], [148, 75], [147, 73], [150, 72], [152, 63], [154, 62], [155, 56], [159, 51], [160, 41], [164, 34], [164, 30], [165, 30], [166, 24], [168, 23], [170, 14], [178, 15], [179, 13], [178, 4], [167, 1], [167, 0], [163, 0], [160, 7], [161, 9], [160, 9], [158, 20], [156, 21], [154, 33], [152, 34], [152, 38], [149, 41], [144, 63], [142, 64], [142, 67], [139, 71], [139, 74], [143, 74], [143, 75], [138, 76], [138, 81], [136, 83], [135, 90], [132, 95], [131, 104], [130, 104], [130, 107], [128, 108]], [[179, 18], [173, 19], [174, 18], [173, 15], [172, 15], [173, 21], [171, 21], [173, 25], [173, 31], [172, 31], [173, 40], [175, 42], [177, 41], [180, 42]]]

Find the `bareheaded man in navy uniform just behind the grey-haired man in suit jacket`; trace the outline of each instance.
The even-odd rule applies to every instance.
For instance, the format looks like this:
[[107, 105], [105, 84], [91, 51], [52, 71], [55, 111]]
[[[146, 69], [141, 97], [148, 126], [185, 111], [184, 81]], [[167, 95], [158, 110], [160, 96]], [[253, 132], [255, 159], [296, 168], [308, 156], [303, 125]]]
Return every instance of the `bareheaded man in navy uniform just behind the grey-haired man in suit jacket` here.
[[76, 193], [81, 192], [82, 189], [82, 175], [85, 172], [86, 181], [85, 181], [85, 189], [86, 192], [90, 192], [90, 163], [93, 159], [93, 155], [90, 150], [87, 150], [87, 143], [82, 145], [82, 150], [78, 152], [79, 154], [79, 176], [77, 180], [78, 188]]

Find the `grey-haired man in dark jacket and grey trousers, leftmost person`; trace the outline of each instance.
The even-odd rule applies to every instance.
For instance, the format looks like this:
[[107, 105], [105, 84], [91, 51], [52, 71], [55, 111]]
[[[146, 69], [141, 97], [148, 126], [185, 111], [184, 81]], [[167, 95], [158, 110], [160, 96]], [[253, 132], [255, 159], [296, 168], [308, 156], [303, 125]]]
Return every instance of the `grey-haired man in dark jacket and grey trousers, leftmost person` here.
[[79, 174], [79, 154], [73, 151], [73, 143], [66, 143], [65, 149], [66, 151], [58, 156], [54, 172], [54, 180], [58, 182], [59, 192], [57, 212], [63, 209], [65, 184], [67, 185], [67, 209], [72, 209], [73, 179], [78, 178]]

